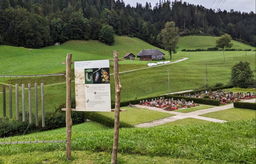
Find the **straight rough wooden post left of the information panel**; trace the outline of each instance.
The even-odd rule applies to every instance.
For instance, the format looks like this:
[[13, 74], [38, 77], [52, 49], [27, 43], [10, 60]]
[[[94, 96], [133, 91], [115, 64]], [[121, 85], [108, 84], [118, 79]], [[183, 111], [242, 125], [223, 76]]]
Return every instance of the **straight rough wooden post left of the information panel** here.
[[66, 86], [67, 86], [67, 98], [66, 98], [66, 157], [71, 159], [71, 134], [72, 134], [72, 119], [71, 119], [71, 59], [72, 54], [67, 54], [66, 58]]

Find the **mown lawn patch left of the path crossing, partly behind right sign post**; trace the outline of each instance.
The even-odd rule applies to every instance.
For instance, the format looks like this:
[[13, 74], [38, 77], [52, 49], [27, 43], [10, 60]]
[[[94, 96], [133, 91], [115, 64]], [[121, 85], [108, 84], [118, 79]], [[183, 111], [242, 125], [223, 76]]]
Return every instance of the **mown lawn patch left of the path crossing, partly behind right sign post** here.
[[[157, 112], [157, 111], [148, 110], [148, 109], [129, 108], [129, 107], [122, 107], [121, 109], [126, 109], [126, 112], [120, 112], [120, 121], [130, 125], [136, 125], [144, 122], [158, 120], [165, 117], [175, 116], [174, 114]], [[97, 113], [112, 119], [114, 119], [115, 117], [114, 112], [97, 112]]]

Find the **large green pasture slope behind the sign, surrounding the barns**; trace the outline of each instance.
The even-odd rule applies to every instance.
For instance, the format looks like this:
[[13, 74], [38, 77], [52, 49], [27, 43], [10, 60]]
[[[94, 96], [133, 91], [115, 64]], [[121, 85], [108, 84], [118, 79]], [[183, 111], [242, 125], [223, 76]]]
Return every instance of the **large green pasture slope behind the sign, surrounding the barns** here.
[[[128, 52], [132, 52], [136, 55], [143, 48], [157, 48], [138, 38], [129, 38], [127, 36], [115, 36], [115, 40], [116, 42], [113, 46], [108, 46], [95, 40], [69, 41], [61, 44], [61, 46], [50, 46], [42, 49], [34, 49], [31, 52], [28, 51], [28, 48], [1, 45], [0, 74], [22, 75], [63, 73], [65, 72], [65, 65], [61, 65], [61, 62], [65, 61], [66, 54], [68, 53], [73, 54], [72, 61], [81, 61], [112, 59], [113, 50], [117, 50], [120, 56], [119, 58], [122, 58], [123, 55]], [[204, 41], [202, 40], [202, 42]], [[181, 43], [182, 39], [180, 44]], [[247, 46], [245, 44], [242, 45]], [[166, 53], [165, 58], [167, 60], [169, 58], [168, 52], [163, 52]], [[225, 63], [223, 61], [223, 53], [221, 51], [190, 52], [190, 56], [189, 52], [178, 51], [177, 54], [173, 55], [173, 59], [170, 61], [174, 62], [175, 60], [184, 57], [187, 57], [189, 59], [169, 65], [171, 92], [195, 89], [204, 84], [215, 85], [215, 83], [217, 82], [222, 82], [225, 84], [229, 81], [231, 67], [239, 61], [249, 62], [252, 70], [255, 71], [255, 51], [249, 51], [247, 52], [247, 55], [245, 55], [244, 51], [226, 51]], [[208, 82], [206, 81], [206, 59], [208, 70]], [[136, 58], [136, 60], [120, 61], [120, 72], [125, 70], [133, 70], [136, 68], [147, 67], [147, 63], [150, 62], [156, 61], [139, 61], [138, 58]], [[110, 65], [110, 67], [113, 67], [113, 62], [110, 62]], [[167, 66], [164, 65], [159, 67], [150, 67], [148, 69], [142, 69], [138, 71], [121, 73], [121, 101], [128, 101], [136, 98], [146, 98], [149, 96], [157, 96], [160, 94], [168, 93], [168, 79], [166, 68]], [[8, 84], [9, 79], [10, 78], [5, 78], [5, 81], [3, 81], [3, 78], [0, 78], [0, 85], [3, 82]], [[29, 78], [18, 78], [18, 83], [21, 84], [23, 83], [23, 81], [25, 81], [26, 83], [28, 83], [29, 81], [31, 81], [31, 83], [41, 83], [41, 81], [45, 82], [45, 78], [43, 78], [43, 80], [40, 77], [37, 77], [36, 80], [33, 80], [32, 78], [30, 80]], [[62, 77], [51, 79], [49, 83], [59, 83], [64, 81], [65, 77]], [[111, 100], [112, 102], [114, 102], [113, 75], [110, 76], [110, 81], [112, 81]], [[15, 83], [16, 78], [12, 78], [12, 84]], [[74, 87], [72, 87], [72, 89], [72, 94], [74, 95]], [[0, 86], [0, 92], [1, 91], [2, 89]], [[0, 99], [2, 99], [1, 93]], [[65, 103], [65, 83], [45, 87], [46, 110], [54, 111], [54, 109], [58, 107], [59, 104], [63, 103]], [[26, 105], [28, 105], [28, 103], [26, 103]], [[2, 109], [2, 103], [0, 103], [0, 109]], [[15, 105], [13, 106], [13, 109], [15, 109]], [[0, 110], [0, 115], [2, 115], [2, 110]]]

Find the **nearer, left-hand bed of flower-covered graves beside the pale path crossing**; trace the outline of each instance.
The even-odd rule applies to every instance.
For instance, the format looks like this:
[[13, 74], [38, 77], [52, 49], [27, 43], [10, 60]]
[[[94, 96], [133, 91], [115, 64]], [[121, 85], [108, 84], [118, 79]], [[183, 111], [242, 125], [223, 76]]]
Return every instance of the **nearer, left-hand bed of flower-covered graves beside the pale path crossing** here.
[[151, 106], [151, 107], [157, 107], [161, 108], [163, 110], [172, 111], [172, 110], [178, 110], [183, 108], [191, 108], [194, 106], [199, 106], [194, 104], [193, 101], [186, 101], [185, 99], [177, 99], [174, 100], [173, 98], [166, 99], [165, 97], [155, 98], [155, 99], [149, 99], [149, 100], [141, 100], [140, 105], [143, 106]]

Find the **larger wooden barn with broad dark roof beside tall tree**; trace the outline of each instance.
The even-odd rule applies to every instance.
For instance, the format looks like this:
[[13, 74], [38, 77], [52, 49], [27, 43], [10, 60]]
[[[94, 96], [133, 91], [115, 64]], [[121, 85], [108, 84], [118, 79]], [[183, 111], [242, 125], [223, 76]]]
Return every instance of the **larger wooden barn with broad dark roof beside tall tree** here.
[[140, 60], [163, 60], [164, 53], [158, 49], [142, 50], [137, 54], [137, 58]]

